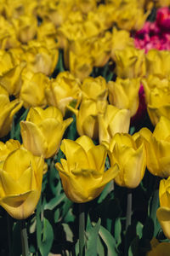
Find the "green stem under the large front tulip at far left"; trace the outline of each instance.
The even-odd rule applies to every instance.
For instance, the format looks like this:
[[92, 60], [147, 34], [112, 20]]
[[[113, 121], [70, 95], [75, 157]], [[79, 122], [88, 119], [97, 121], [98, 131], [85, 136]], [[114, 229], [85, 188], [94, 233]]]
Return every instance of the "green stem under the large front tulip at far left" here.
[[22, 256], [29, 256], [28, 237], [26, 232], [26, 221], [25, 219], [20, 220], [20, 237], [22, 244]]

